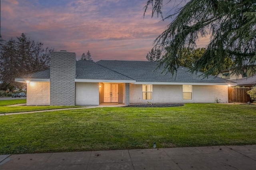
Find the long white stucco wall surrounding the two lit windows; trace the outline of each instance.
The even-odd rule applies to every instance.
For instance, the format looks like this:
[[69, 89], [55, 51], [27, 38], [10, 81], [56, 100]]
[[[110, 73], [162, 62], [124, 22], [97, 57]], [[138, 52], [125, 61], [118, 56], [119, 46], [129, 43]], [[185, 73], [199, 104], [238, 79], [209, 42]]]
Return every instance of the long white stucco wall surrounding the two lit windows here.
[[[182, 100], [182, 85], [153, 85], [151, 103], [221, 103], [228, 102], [228, 85], [193, 85], [193, 100]], [[130, 103], [147, 103], [142, 101], [142, 85], [130, 85]]]

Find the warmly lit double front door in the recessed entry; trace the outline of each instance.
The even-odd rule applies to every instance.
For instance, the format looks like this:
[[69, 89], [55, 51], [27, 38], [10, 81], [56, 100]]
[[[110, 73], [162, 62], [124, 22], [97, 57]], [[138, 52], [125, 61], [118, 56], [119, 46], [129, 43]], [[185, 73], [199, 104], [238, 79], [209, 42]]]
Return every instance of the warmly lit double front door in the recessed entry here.
[[104, 84], [104, 103], [118, 103], [118, 84]]

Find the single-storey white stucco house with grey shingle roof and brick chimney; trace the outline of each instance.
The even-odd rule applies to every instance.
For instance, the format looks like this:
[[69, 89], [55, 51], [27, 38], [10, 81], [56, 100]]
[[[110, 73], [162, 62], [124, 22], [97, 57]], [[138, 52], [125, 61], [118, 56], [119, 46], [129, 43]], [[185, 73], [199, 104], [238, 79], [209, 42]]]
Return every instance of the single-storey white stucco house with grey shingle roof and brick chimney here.
[[[216, 103], [228, 102], [232, 81], [202, 79], [180, 67], [162, 73], [157, 62], [76, 61], [76, 54], [51, 53], [49, 70], [18, 77], [27, 82], [27, 105], [99, 105], [101, 103]], [[155, 70], [156, 69], [156, 70]]]

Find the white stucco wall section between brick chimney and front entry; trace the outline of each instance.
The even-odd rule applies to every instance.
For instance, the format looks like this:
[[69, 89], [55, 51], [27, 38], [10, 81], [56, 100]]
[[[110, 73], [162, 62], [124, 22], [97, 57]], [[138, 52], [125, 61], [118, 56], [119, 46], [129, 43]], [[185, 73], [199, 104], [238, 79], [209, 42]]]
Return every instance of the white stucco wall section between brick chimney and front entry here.
[[76, 105], [99, 105], [99, 83], [76, 82]]

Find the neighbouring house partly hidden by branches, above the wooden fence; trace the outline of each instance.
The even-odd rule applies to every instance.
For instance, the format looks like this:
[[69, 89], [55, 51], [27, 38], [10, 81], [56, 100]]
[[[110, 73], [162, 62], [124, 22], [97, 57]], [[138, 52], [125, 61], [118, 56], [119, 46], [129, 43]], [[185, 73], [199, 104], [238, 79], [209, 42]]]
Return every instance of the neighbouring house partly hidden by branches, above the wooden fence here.
[[[254, 65], [256, 67], [256, 65]], [[232, 74], [232, 69], [222, 70], [217, 77], [234, 81], [240, 87], [252, 87], [256, 85], [256, 74], [252, 69], [244, 69], [239, 75]]]

